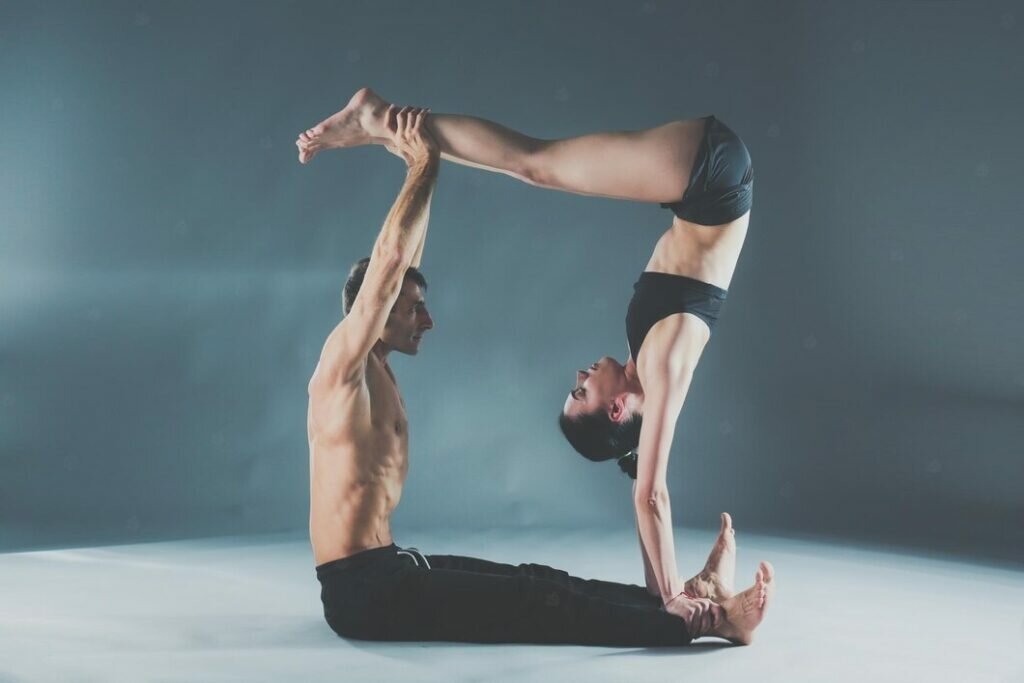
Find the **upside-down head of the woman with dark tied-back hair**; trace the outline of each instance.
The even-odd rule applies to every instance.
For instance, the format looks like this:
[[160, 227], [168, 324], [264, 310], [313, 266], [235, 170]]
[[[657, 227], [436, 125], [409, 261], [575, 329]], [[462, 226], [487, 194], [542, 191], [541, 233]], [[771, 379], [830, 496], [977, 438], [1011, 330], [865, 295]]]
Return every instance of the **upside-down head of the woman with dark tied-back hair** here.
[[640, 443], [643, 416], [639, 403], [625, 368], [605, 356], [577, 371], [575, 386], [565, 399], [558, 425], [585, 458], [618, 458]]

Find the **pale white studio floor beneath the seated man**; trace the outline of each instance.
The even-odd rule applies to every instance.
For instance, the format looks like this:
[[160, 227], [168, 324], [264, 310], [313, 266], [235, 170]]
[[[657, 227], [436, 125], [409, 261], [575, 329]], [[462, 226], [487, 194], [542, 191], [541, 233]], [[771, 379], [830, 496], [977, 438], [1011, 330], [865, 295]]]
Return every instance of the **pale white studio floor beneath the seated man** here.
[[[399, 545], [642, 581], [636, 538], [406, 535]], [[283, 537], [0, 555], [0, 681], [1024, 683], [1024, 572], [744, 535], [775, 565], [750, 647], [368, 643], [324, 623], [308, 546]], [[681, 571], [712, 535], [677, 531]]]

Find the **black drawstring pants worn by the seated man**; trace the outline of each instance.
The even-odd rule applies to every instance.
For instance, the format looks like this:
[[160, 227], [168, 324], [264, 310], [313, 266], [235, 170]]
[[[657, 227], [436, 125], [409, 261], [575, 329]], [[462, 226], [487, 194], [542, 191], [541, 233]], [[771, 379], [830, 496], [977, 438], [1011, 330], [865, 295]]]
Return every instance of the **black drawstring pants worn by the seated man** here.
[[345, 638], [686, 645], [686, 623], [639, 586], [541, 564], [423, 556], [394, 545], [316, 567], [324, 615]]

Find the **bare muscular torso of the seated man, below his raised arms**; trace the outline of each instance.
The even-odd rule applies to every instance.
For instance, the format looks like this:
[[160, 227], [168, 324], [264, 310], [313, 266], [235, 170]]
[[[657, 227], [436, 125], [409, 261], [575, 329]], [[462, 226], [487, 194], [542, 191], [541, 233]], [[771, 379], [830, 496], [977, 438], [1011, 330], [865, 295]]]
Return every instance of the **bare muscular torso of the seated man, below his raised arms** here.
[[310, 390], [309, 538], [316, 564], [392, 543], [389, 518], [409, 472], [409, 429], [394, 374], [375, 352], [366, 382]]

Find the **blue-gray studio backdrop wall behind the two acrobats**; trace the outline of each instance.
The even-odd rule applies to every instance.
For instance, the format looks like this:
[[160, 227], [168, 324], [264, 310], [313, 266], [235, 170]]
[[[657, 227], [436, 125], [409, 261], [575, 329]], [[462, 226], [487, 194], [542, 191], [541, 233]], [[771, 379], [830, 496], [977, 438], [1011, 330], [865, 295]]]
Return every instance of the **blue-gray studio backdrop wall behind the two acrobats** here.
[[[401, 163], [361, 85], [555, 137], [714, 113], [757, 169], [677, 524], [1024, 561], [1014, 2], [0, 4], [0, 550], [299, 529], [306, 382]], [[418, 526], [627, 527], [562, 441], [671, 214], [445, 166], [396, 358]]]

